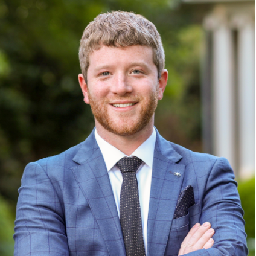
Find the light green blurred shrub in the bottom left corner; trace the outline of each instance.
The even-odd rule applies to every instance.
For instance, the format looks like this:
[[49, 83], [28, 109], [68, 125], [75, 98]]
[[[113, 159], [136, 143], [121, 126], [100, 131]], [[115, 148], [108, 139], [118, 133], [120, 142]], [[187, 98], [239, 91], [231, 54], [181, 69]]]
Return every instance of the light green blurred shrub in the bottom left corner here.
[[10, 205], [0, 196], [0, 255], [13, 255], [14, 216]]

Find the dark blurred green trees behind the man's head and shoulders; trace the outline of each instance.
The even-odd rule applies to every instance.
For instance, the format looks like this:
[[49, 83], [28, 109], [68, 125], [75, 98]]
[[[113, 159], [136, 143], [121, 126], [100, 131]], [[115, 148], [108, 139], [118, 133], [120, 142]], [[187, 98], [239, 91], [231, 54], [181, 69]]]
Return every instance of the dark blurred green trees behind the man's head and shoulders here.
[[133, 11], [156, 25], [170, 74], [156, 127], [200, 151], [202, 31], [179, 2], [0, 0], [0, 193], [16, 203], [28, 162], [74, 146], [94, 127], [78, 85], [78, 47], [86, 25], [101, 12]]

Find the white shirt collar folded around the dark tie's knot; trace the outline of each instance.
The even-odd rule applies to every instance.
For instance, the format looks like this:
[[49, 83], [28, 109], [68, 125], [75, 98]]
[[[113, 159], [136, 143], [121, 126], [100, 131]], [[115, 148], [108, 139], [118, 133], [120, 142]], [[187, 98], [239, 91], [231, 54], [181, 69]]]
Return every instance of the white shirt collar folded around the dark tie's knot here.
[[[100, 147], [101, 153], [103, 155], [107, 171], [110, 171], [112, 167], [125, 155], [116, 147], [109, 144], [109, 142], [104, 141], [100, 135], [98, 135], [97, 130], [95, 129], [95, 139], [97, 141], [98, 147]], [[153, 128], [152, 135], [144, 141], [141, 146], [139, 146], [130, 156], [137, 156], [150, 168], [153, 167], [153, 156], [155, 150], [155, 142], [156, 142], [156, 131]]]

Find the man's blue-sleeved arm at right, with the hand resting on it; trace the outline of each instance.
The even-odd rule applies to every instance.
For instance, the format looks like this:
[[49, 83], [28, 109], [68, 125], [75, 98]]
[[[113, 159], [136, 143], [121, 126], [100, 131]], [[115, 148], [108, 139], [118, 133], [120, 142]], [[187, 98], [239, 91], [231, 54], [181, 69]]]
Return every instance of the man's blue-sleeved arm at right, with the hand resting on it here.
[[196, 223], [191, 228], [181, 243], [179, 256], [248, 255], [243, 210], [233, 179], [228, 162], [219, 158], [203, 195], [200, 215], [203, 224]]

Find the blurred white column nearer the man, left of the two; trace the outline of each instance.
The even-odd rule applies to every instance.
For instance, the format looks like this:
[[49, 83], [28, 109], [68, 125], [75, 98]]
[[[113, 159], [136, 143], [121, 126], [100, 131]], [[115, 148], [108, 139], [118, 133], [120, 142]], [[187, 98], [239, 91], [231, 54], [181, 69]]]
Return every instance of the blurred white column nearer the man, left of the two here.
[[235, 167], [234, 50], [231, 29], [213, 31], [213, 147]]

